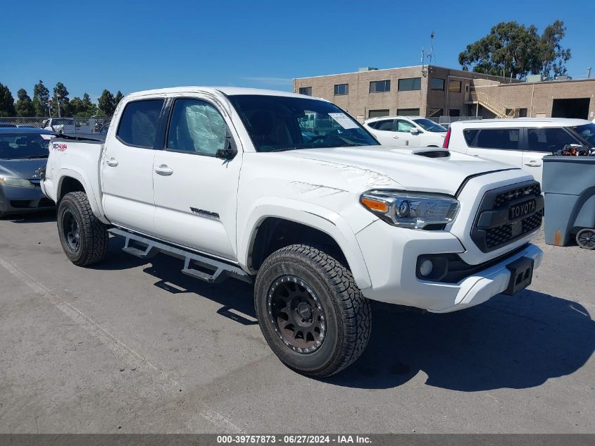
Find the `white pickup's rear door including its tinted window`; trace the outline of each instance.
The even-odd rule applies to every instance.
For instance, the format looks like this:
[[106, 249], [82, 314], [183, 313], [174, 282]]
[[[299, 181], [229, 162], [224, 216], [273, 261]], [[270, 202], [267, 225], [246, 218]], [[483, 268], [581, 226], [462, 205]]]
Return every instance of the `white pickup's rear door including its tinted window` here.
[[[130, 101], [101, 158], [104, 211], [117, 225], [154, 235], [153, 161], [164, 99]], [[163, 136], [161, 137], [163, 145]]]

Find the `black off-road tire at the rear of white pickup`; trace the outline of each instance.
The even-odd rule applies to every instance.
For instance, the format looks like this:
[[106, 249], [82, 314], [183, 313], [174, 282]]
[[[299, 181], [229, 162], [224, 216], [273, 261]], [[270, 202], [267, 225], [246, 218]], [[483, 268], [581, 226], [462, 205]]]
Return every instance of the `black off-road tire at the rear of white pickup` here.
[[[104, 260], [109, 247], [107, 225], [94, 216], [87, 194], [70, 192], [58, 205], [58, 235], [68, 259], [77, 266], [98, 264]], [[65, 224], [75, 221], [78, 228], [78, 244], [73, 247], [65, 233]]]

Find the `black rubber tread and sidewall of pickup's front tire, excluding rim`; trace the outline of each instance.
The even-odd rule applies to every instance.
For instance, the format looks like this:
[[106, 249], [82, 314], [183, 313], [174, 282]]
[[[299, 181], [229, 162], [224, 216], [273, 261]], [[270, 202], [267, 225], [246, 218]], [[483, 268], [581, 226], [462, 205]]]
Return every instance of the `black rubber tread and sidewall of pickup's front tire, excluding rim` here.
[[[296, 352], [292, 345], [287, 345], [270, 313], [275, 283], [294, 278], [310, 285], [325, 314], [325, 337], [320, 347], [310, 353]], [[273, 252], [258, 270], [254, 303], [270, 348], [286, 366], [306, 376], [322, 378], [342, 371], [368, 345], [370, 302], [361, 294], [351, 271], [321, 249], [293, 244]]]

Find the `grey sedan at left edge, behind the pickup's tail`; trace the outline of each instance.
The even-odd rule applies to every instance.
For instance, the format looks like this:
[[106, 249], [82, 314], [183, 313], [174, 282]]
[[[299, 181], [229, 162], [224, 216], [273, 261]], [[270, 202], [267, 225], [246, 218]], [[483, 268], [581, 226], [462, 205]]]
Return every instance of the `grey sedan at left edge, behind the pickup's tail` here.
[[39, 186], [54, 135], [39, 128], [0, 129], [0, 217], [54, 207]]

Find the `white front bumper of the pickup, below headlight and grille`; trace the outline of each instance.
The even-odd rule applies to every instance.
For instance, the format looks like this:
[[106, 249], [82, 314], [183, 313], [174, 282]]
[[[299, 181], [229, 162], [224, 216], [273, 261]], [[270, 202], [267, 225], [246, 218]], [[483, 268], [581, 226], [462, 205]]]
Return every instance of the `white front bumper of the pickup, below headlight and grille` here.
[[[443, 231], [394, 228], [376, 221], [357, 234], [372, 286], [362, 290], [368, 299], [427, 309], [435, 313], [458, 311], [486, 302], [508, 287], [506, 266], [522, 256], [541, 264], [543, 252], [526, 244], [511, 256], [472, 273], [458, 283], [420, 280], [415, 275], [418, 256], [465, 252], [461, 241]], [[511, 247], [513, 249], [513, 247]], [[485, 259], [486, 261], [488, 259]]]

